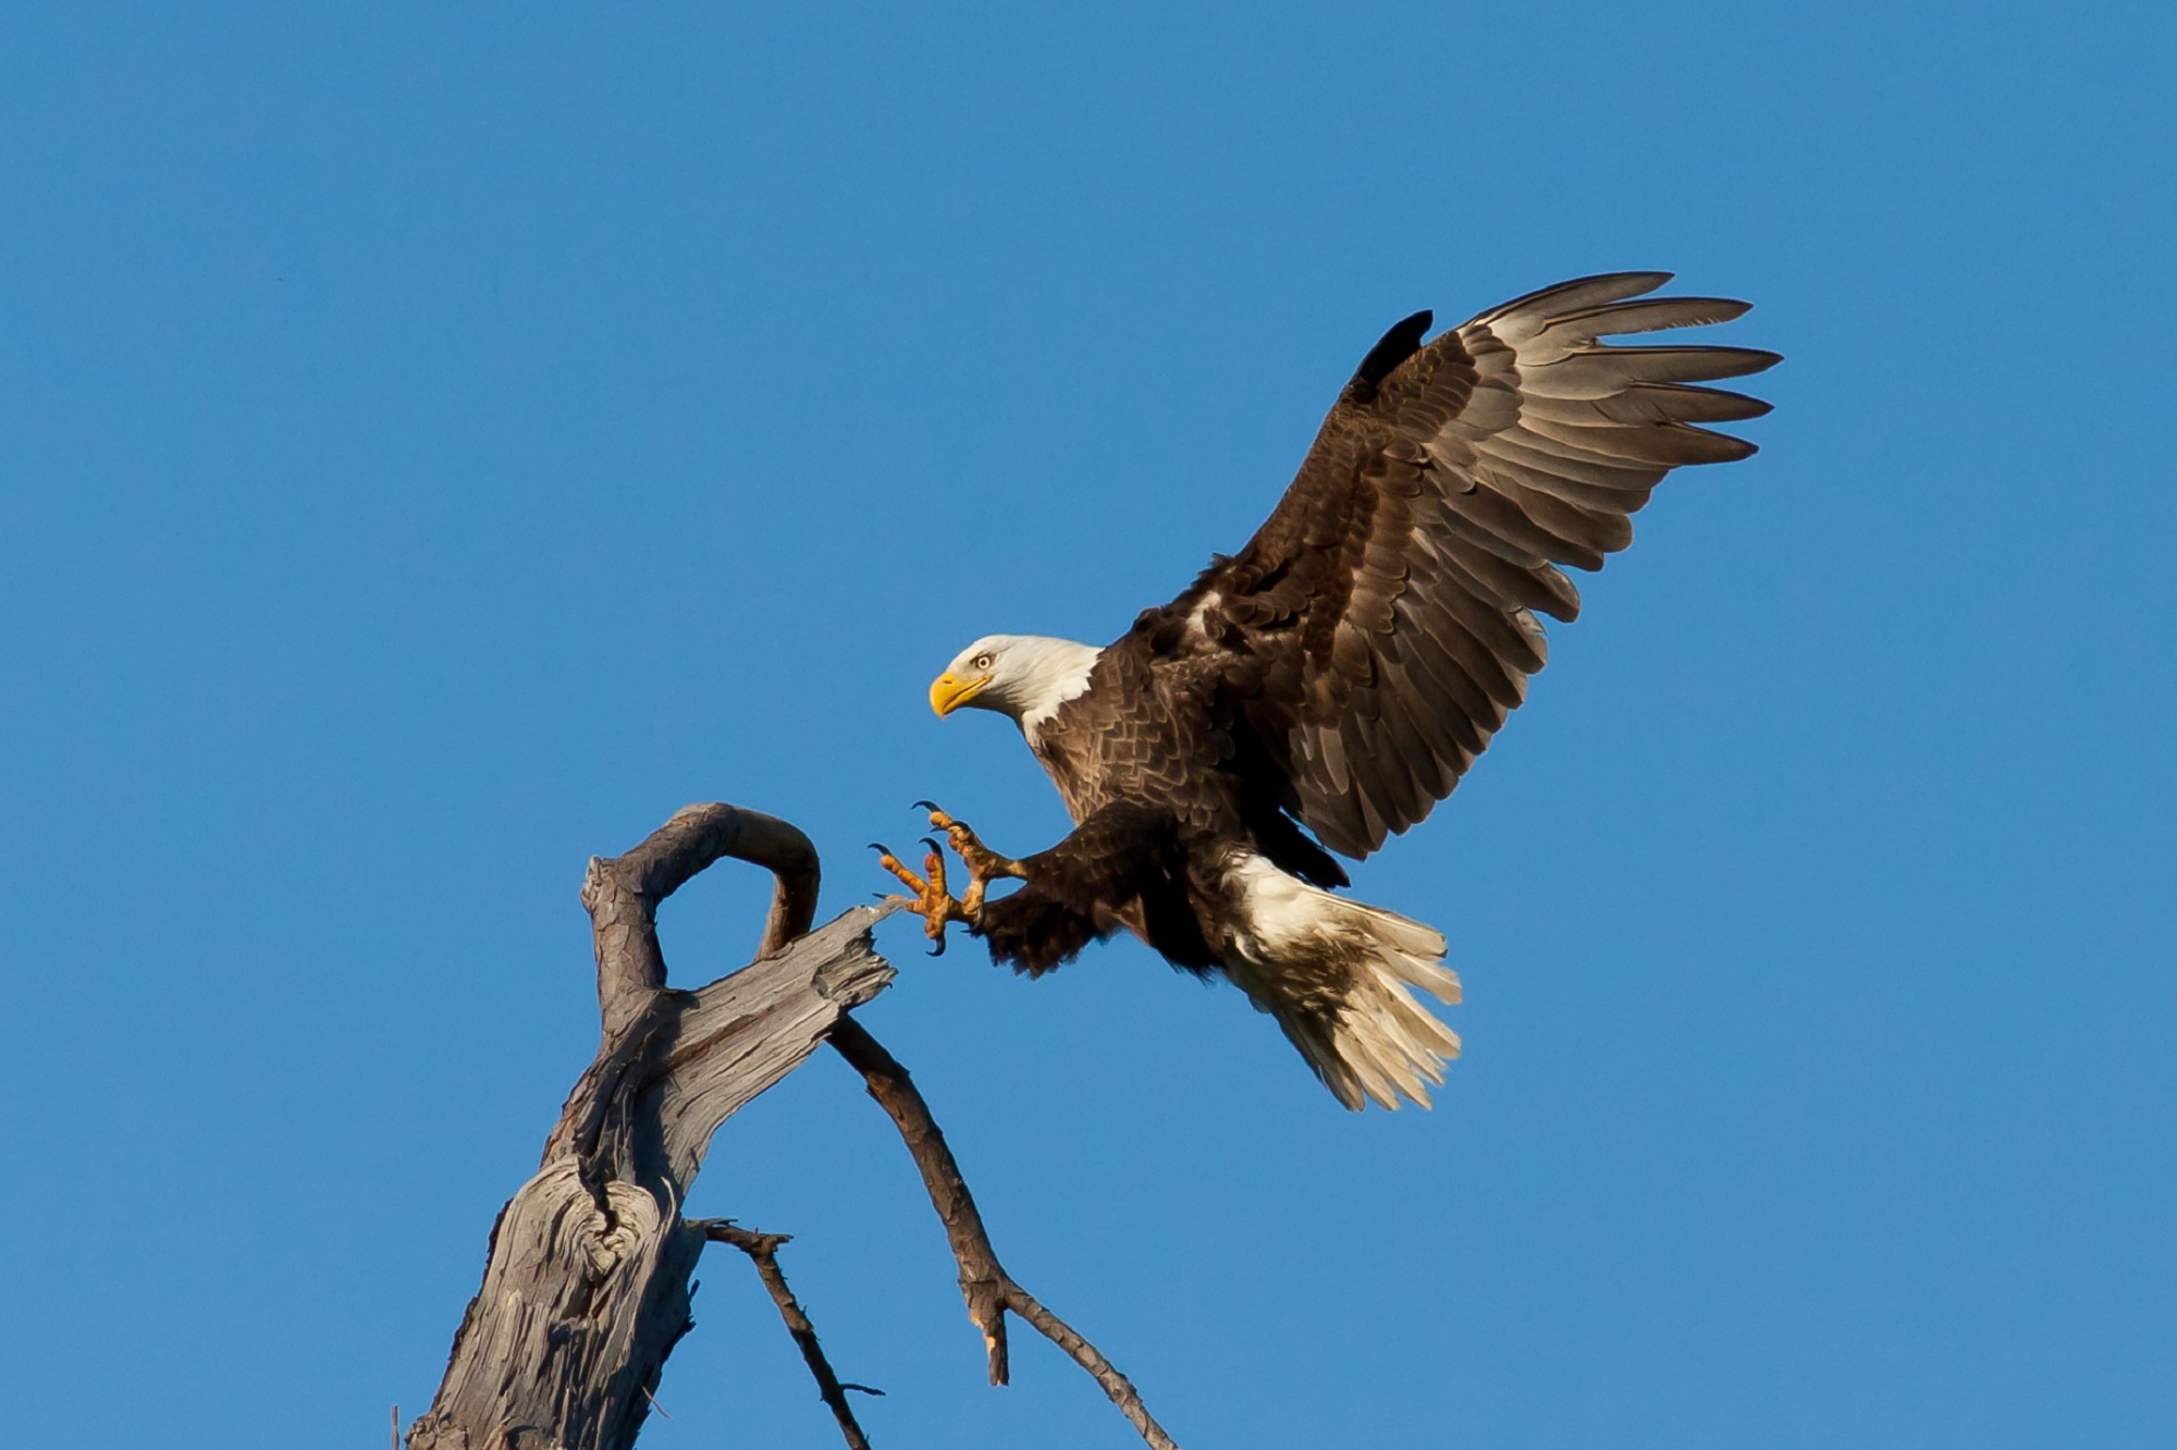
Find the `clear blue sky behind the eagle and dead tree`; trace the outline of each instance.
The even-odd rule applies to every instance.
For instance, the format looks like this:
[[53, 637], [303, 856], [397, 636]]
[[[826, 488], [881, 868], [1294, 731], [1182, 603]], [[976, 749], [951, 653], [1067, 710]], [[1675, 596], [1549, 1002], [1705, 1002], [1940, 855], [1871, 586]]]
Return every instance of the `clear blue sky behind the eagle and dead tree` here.
[[[917, 797], [1056, 838], [960, 644], [1241, 544], [1406, 311], [1674, 268], [1763, 453], [1356, 871], [1467, 982], [1435, 1113], [1132, 943], [893, 923], [866, 1019], [1193, 1450], [2170, 1443], [2170, 15], [0, 9], [11, 1437], [383, 1446], [594, 1045], [590, 853], [740, 801], [829, 914]], [[875, 1443], [1132, 1443], [982, 1385], [842, 1065], [694, 1208]], [[745, 1263], [697, 1317], [644, 1446], [836, 1443]]]

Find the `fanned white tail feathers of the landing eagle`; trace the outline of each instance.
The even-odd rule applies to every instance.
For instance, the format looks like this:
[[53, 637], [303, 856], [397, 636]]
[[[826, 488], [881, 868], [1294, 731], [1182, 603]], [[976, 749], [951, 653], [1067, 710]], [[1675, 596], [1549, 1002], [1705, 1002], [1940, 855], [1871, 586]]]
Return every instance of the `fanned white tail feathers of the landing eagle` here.
[[1400, 1097], [1428, 1106], [1428, 1084], [1459, 1056], [1459, 1034], [1417, 999], [1459, 1002], [1443, 967], [1443, 936], [1411, 917], [1335, 897], [1260, 856], [1232, 867], [1245, 927], [1234, 932], [1226, 975], [1278, 1019], [1341, 1104]]

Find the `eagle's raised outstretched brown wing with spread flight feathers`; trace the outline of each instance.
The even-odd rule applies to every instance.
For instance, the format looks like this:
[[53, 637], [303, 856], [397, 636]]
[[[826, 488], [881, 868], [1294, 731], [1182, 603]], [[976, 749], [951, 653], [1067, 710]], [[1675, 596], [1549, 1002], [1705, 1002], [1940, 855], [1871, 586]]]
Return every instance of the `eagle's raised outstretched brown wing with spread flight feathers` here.
[[1426, 344], [1430, 314], [1406, 318], [1254, 540], [1156, 612], [1232, 649], [1230, 708], [1328, 847], [1367, 856], [1452, 792], [1543, 664], [1535, 612], [1581, 610], [1561, 566], [1631, 544], [1631, 514], [1678, 464], [1755, 451], [1696, 425], [1768, 403], [1692, 383], [1774, 353], [1602, 342], [1748, 307], [1641, 296], [1665, 281], [1561, 283]]

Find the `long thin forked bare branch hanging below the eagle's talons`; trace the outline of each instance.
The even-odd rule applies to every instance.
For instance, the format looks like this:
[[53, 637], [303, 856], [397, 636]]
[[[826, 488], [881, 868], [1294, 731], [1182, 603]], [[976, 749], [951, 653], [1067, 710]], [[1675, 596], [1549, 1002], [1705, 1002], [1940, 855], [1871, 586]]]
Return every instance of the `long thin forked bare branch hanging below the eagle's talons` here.
[[908, 1154], [914, 1158], [914, 1167], [923, 1173], [923, 1187], [930, 1191], [930, 1206], [938, 1211], [938, 1221], [945, 1224], [945, 1239], [951, 1243], [954, 1263], [960, 1265], [960, 1295], [967, 1300], [967, 1317], [982, 1330], [984, 1345], [991, 1354], [991, 1383], [1004, 1385], [1010, 1378], [1008, 1345], [1006, 1345], [1006, 1311], [1010, 1308], [1021, 1319], [1025, 1319], [1038, 1335], [1056, 1343], [1075, 1365], [1088, 1372], [1088, 1376], [1102, 1385], [1110, 1402], [1119, 1406], [1128, 1424], [1141, 1433], [1141, 1437], [1154, 1450], [1178, 1450], [1171, 1435], [1165, 1433], [1149, 1409], [1141, 1402], [1141, 1393], [1134, 1383], [1128, 1380], [1119, 1369], [1104, 1359], [1104, 1352], [1088, 1343], [1080, 1332], [1073, 1330], [1065, 1319], [1054, 1315], [1049, 1308], [1036, 1302], [1032, 1293], [1021, 1289], [1004, 1265], [997, 1261], [997, 1250], [991, 1248], [991, 1234], [982, 1226], [982, 1211], [975, 1208], [975, 1195], [969, 1193], [967, 1178], [960, 1176], [960, 1163], [951, 1156], [951, 1147], [945, 1143], [945, 1132], [938, 1128], [936, 1117], [930, 1115], [930, 1104], [923, 1099], [921, 1089], [914, 1086], [914, 1078], [901, 1067], [899, 1058], [884, 1049], [869, 1030], [853, 1017], [840, 1015], [838, 1025], [832, 1028], [832, 1047], [838, 1049], [847, 1062], [862, 1073], [862, 1082], [869, 1084], [869, 1095], [877, 1099], [877, 1106], [893, 1119], [899, 1128], [901, 1141], [908, 1145]]

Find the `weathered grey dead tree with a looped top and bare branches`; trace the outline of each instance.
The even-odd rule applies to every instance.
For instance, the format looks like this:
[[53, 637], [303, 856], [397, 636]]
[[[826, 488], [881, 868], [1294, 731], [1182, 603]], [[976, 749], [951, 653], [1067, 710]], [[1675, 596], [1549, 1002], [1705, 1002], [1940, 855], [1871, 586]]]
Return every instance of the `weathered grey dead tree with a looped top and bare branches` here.
[[[671, 988], [657, 906], [721, 858], [775, 877], [758, 958], [710, 986]], [[666, 1356], [690, 1328], [688, 1280], [708, 1243], [755, 1261], [847, 1446], [869, 1446], [849, 1387], [779, 1271], [786, 1237], [681, 1213], [718, 1126], [825, 1041], [862, 1073], [921, 1169], [991, 1383], [1008, 1378], [1010, 1311], [1095, 1376], [1149, 1446], [1173, 1446], [1128, 1378], [999, 1265], [930, 1106], [849, 1017], [893, 980], [871, 945], [890, 908], [860, 906], [810, 932], [816, 882], [808, 836], [734, 806], [688, 806], [627, 856], [590, 860], [581, 901], [596, 941], [603, 1041], [542, 1165], [492, 1226], [483, 1287], [462, 1317], [438, 1398], [409, 1426], [409, 1450], [634, 1446]]]

